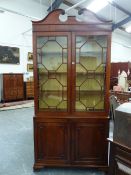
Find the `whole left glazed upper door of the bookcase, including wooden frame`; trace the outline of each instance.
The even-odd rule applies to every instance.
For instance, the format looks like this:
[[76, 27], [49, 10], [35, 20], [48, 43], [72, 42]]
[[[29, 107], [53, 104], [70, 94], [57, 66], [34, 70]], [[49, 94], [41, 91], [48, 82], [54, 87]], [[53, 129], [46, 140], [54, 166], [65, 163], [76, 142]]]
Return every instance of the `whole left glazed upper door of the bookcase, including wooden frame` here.
[[[69, 113], [71, 37], [67, 32], [37, 35], [38, 110]], [[36, 92], [37, 93], [37, 92]]]

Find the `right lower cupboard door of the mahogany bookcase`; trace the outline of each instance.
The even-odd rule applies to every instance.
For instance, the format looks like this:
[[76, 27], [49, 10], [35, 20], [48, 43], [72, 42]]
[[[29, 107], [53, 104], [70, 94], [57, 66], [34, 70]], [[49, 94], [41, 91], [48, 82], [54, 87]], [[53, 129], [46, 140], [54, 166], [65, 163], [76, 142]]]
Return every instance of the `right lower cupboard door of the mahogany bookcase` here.
[[72, 155], [75, 164], [107, 165], [106, 127], [105, 122], [95, 120], [73, 124]]

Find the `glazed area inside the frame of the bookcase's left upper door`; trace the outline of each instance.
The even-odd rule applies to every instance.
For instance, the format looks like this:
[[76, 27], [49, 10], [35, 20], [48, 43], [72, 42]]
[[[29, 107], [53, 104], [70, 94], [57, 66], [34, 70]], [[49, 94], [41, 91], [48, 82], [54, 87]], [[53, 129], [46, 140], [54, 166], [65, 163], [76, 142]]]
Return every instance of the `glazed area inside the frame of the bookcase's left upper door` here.
[[67, 37], [38, 37], [39, 109], [67, 111]]

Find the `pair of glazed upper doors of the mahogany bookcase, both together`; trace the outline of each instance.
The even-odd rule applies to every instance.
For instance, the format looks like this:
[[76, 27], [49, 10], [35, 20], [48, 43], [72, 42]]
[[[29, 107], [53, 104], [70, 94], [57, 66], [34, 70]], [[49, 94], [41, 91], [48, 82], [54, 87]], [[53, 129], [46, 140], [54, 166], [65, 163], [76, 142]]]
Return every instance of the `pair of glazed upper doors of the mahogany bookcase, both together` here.
[[39, 111], [53, 115], [105, 111], [107, 36], [67, 32], [41, 35], [37, 36], [35, 74]]

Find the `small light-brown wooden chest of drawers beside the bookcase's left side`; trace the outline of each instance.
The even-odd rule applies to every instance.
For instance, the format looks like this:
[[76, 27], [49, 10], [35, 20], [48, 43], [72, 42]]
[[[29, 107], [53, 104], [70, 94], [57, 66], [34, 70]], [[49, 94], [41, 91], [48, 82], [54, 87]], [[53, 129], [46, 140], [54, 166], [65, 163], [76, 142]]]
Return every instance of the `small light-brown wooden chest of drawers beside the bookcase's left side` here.
[[34, 82], [33, 81], [25, 82], [25, 93], [26, 93], [26, 99], [34, 98]]

